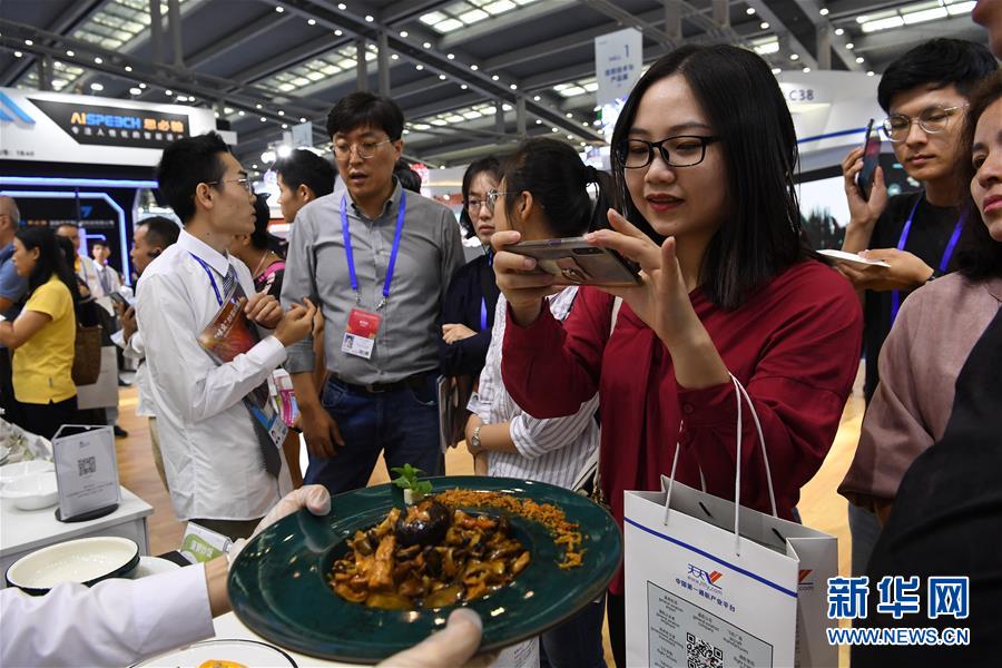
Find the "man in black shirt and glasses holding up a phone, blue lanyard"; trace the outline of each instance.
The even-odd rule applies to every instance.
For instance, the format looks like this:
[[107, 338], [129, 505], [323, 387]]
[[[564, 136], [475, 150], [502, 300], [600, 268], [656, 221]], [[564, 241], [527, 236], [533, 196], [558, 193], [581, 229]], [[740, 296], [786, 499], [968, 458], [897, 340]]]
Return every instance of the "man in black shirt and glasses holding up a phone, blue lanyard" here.
[[[864, 293], [863, 334], [866, 357], [866, 402], [880, 382], [877, 360], [901, 303], [915, 288], [952, 271], [951, 259], [962, 224], [963, 188], [956, 180], [963, 150], [964, 108], [974, 86], [996, 68], [981, 45], [934, 39], [892, 62], [877, 97], [887, 112], [884, 135], [918, 193], [887, 197], [883, 170], [876, 167], [870, 198], [858, 189], [863, 148], [843, 160], [851, 219], [842, 249], [859, 253], [884, 266], [839, 262], [838, 269]], [[867, 250], [868, 249], [868, 250]], [[852, 498], [854, 471], [839, 492]], [[880, 534], [874, 511], [849, 504], [853, 574], [863, 574]]]

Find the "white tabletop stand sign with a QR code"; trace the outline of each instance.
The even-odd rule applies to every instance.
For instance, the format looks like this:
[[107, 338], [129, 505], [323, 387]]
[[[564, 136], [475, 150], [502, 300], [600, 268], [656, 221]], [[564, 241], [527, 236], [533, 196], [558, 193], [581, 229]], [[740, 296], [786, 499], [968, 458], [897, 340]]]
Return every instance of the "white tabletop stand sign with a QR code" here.
[[118, 461], [110, 426], [63, 425], [52, 439], [63, 520], [119, 502]]

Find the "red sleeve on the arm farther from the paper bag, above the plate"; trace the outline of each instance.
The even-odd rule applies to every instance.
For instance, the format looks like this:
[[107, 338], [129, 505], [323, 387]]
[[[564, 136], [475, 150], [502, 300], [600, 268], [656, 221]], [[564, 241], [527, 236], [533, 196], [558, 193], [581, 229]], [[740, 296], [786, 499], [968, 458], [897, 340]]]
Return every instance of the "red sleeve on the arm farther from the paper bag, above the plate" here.
[[533, 418], [573, 415], [598, 391], [602, 351], [612, 322], [612, 297], [578, 289], [570, 315], [558, 322], [546, 306], [528, 327], [505, 314], [501, 377]]

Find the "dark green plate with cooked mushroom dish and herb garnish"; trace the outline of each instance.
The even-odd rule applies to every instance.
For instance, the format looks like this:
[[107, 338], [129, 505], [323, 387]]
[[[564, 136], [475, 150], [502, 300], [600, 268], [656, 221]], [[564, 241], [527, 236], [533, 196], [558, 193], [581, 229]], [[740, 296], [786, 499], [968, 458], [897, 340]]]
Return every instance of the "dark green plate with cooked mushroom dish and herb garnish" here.
[[483, 620], [482, 651], [532, 638], [601, 596], [622, 558], [612, 517], [551, 484], [430, 478], [407, 505], [383, 484], [338, 494], [332, 512], [268, 527], [229, 571], [240, 621], [279, 647], [375, 664], [445, 626]]

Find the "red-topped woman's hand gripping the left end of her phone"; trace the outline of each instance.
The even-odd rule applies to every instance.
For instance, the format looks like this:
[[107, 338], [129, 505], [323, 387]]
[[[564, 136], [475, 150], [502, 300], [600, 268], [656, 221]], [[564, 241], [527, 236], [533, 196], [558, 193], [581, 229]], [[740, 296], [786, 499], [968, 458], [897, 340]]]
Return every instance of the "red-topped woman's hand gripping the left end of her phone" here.
[[542, 311], [542, 299], [556, 295], [562, 287], [554, 286], [550, 274], [536, 271], [536, 259], [504, 250], [522, 238], [518, 232], [500, 230], [491, 236], [494, 247], [494, 277], [504, 294], [514, 321], [520, 326], [536, 322]]

